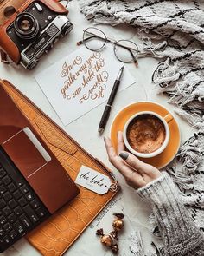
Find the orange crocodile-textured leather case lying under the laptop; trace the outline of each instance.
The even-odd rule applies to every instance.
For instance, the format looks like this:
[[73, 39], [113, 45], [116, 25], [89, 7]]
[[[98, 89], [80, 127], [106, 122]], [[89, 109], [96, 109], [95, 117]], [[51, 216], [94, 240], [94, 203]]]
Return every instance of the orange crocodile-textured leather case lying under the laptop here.
[[[80, 145], [15, 89], [10, 82], [0, 82], [16, 105], [22, 109], [22, 113], [28, 117], [42, 140], [61, 161], [73, 181], [75, 181], [81, 165], [92, 167], [103, 174], [109, 174], [110, 171], [107, 168], [99, 164], [99, 161], [96, 161], [83, 148], [80, 148]], [[110, 179], [112, 179], [111, 175]], [[42, 255], [62, 255], [115, 194], [116, 192], [109, 191], [107, 194], [99, 195], [80, 187], [80, 194], [77, 198], [29, 233], [27, 239]]]

